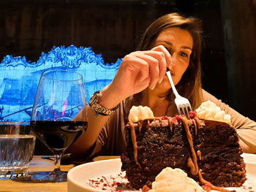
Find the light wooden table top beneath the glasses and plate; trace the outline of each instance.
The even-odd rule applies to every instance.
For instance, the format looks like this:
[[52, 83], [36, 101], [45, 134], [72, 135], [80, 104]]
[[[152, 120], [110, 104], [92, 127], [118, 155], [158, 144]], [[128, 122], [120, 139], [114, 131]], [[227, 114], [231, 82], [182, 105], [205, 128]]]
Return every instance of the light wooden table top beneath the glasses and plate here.
[[[99, 156], [94, 158], [93, 161], [100, 161], [110, 158], [118, 158], [118, 156]], [[74, 167], [73, 164], [61, 165], [61, 171], [67, 172]], [[29, 172], [50, 172], [53, 171], [53, 161], [42, 159], [41, 156], [35, 155], [32, 159]], [[0, 192], [42, 192], [42, 191], [67, 191], [67, 182], [61, 183], [29, 183], [29, 182], [17, 182], [13, 180], [0, 180]]]

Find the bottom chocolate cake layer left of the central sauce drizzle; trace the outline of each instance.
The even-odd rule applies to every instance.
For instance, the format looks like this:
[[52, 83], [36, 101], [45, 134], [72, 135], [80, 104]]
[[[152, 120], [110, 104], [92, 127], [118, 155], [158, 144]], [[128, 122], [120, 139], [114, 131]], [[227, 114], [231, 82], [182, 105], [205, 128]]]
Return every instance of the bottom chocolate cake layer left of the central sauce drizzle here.
[[[162, 147], [152, 146], [148, 150], [139, 149], [138, 147], [138, 163], [134, 159], [131, 161], [128, 155], [122, 154], [122, 170], [126, 171], [129, 183], [133, 187], [142, 188], [149, 180], [154, 181], [159, 172], [167, 166], [187, 169], [187, 158], [189, 154], [188, 148], [170, 147], [163, 145]], [[166, 155], [175, 154], [175, 155]]]

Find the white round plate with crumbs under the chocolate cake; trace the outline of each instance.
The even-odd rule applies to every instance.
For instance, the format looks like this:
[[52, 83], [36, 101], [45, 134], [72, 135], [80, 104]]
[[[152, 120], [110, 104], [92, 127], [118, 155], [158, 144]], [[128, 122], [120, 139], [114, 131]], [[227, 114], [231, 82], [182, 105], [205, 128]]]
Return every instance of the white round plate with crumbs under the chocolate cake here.
[[[256, 155], [244, 153], [246, 182], [236, 192], [256, 191]], [[116, 183], [127, 183], [120, 158], [81, 164], [67, 174], [68, 192], [116, 191]]]

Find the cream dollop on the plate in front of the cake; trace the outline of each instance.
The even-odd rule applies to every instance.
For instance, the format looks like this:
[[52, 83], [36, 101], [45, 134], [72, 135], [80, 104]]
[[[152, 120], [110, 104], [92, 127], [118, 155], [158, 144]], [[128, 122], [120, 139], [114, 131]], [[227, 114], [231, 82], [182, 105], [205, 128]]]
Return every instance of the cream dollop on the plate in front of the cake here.
[[162, 169], [155, 181], [152, 183], [152, 189], [148, 192], [201, 192], [203, 188], [198, 185], [195, 180], [187, 177], [181, 169], [172, 169], [166, 167]]

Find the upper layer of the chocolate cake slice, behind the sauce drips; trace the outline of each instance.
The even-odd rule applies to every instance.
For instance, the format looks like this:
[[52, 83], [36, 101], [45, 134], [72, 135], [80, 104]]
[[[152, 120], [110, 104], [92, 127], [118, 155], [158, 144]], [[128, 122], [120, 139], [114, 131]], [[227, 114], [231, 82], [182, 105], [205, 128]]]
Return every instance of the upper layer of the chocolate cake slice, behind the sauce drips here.
[[[135, 126], [135, 133], [138, 137], [138, 142], [141, 141], [141, 138], [150, 137], [148, 142], [158, 141], [159, 138], [162, 138], [162, 142], [168, 143], [170, 145], [180, 145], [184, 146], [184, 137], [187, 138], [186, 133], [181, 121], [176, 121], [170, 126], [169, 120], [150, 120], [149, 128], [151, 131], [146, 132], [147, 120], [143, 121], [143, 126], [139, 131], [138, 123], [133, 123]], [[189, 130], [192, 134], [193, 142], [195, 146], [200, 147], [214, 147], [214, 146], [222, 146], [222, 147], [238, 147], [238, 134], [236, 133], [235, 128], [228, 125], [227, 123], [217, 122], [213, 120], [199, 120], [200, 125], [196, 124], [195, 121], [188, 120]], [[170, 131], [170, 127], [172, 127], [172, 131]], [[129, 125], [127, 125], [129, 128]], [[195, 134], [195, 130], [197, 134]], [[146, 132], [146, 133], [145, 133]], [[156, 134], [156, 135], [154, 135]], [[168, 134], [168, 137], [162, 137], [162, 135]], [[154, 137], [152, 137], [152, 135]], [[141, 138], [140, 138], [141, 137]]]

